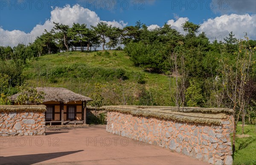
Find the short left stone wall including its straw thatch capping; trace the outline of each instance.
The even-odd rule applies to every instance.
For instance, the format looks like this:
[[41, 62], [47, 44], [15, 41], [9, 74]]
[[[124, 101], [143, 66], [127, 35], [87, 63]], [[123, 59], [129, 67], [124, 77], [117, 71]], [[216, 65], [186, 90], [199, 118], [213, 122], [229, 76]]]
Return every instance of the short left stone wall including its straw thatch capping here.
[[33, 105], [29, 108], [20, 105], [11, 107], [10, 110], [10, 106], [0, 106], [0, 136], [45, 135], [44, 105]]

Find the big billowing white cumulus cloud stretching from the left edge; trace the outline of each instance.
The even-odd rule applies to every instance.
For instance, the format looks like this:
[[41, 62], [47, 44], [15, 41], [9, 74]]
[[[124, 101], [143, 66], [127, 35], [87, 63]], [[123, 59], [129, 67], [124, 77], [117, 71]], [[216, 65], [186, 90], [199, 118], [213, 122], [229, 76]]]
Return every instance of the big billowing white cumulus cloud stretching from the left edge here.
[[[36, 25], [31, 32], [25, 33], [20, 30], [8, 31], [4, 30], [0, 27], [0, 38], [1, 38], [1, 46], [17, 46], [18, 43], [28, 44], [35, 41], [37, 36], [40, 36], [44, 29], [47, 31], [51, 30], [54, 26], [53, 22], [63, 23], [65, 25], [72, 26], [73, 23], [85, 23], [87, 27], [96, 26], [99, 23], [100, 18], [96, 14], [89, 9], [81, 7], [76, 4], [74, 6], [66, 5], [62, 8], [58, 7], [51, 11], [50, 19], [46, 20], [44, 24]], [[107, 22], [107, 21], [105, 21]], [[119, 22], [113, 20], [107, 22], [109, 25], [116, 26], [119, 28], [123, 28], [127, 25], [122, 20]]]

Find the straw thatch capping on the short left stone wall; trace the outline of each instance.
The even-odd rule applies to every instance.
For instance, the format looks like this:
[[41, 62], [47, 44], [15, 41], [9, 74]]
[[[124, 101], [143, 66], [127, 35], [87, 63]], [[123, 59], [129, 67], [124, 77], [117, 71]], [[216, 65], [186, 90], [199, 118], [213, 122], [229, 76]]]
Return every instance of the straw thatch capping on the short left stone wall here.
[[0, 112], [37, 111], [45, 112], [45, 105], [0, 105]]

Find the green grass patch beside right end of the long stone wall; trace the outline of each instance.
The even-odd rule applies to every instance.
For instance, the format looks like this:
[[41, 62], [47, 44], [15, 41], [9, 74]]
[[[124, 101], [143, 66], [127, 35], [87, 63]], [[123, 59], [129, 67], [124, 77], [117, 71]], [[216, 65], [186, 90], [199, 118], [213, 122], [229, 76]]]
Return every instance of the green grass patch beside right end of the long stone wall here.
[[[241, 135], [241, 122], [238, 123], [237, 135]], [[256, 125], [245, 125], [244, 133], [249, 137], [236, 137], [234, 165], [256, 165]]]

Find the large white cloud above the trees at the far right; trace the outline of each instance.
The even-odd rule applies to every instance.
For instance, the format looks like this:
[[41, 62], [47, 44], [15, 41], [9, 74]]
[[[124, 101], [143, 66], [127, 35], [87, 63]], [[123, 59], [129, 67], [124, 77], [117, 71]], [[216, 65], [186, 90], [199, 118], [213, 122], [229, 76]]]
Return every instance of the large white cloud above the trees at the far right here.
[[244, 32], [250, 39], [256, 39], [256, 14], [249, 15], [222, 15], [214, 19], [208, 19], [201, 24], [200, 32], [205, 32], [210, 41], [215, 38], [223, 41], [231, 31], [236, 38], [244, 38]]

